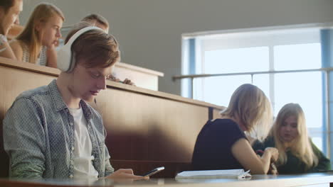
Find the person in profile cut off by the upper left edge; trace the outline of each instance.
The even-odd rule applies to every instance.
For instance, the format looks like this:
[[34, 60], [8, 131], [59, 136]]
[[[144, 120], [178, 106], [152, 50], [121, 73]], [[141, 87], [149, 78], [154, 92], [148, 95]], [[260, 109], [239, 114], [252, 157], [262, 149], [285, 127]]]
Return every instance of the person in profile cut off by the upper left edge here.
[[16, 56], [7, 40], [9, 29], [18, 21], [23, 7], [22, 0], [0, 1], [0, 57], [16, 60]]

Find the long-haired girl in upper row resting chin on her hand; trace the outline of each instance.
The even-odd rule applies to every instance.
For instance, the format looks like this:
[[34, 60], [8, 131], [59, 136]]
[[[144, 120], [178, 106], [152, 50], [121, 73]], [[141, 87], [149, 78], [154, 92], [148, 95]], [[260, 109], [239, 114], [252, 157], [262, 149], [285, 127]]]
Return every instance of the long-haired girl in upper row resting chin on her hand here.
[[11, 42], [17, 60], [57, 67], [56, 46], [64, 19], [63, 13], [53, 4], [38, 4], [22, 33]]

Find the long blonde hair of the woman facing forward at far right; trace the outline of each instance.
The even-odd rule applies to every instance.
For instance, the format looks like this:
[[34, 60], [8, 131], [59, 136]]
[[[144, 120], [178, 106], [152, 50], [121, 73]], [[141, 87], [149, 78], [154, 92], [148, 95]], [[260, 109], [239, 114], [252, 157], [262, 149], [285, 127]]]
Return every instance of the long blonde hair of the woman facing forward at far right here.
[[305, 124], [305, 115], [297, 103], [287, 103], [281, 108], [275, 119], [275, 123], [272, 128], [273, 137], [275, 140], [275, 147], [279, 150], [279, 159], [277, 159], [278, 165], [283, 165], [287, 162], [287, 154], [285, 150], [285, 144], [280, 139], [279, 131], [285, 120], [290, 116], [295, 116], [297, 119], [297, 132], [298, 135], [295, 140], [292, 140], [290, 151], [297, 158], [305, 163], [305, 169], [310, 169], [312, 166], [317, 166], [318, 158], [314, 154], [312, 145], [307, 135], [307, 127]]

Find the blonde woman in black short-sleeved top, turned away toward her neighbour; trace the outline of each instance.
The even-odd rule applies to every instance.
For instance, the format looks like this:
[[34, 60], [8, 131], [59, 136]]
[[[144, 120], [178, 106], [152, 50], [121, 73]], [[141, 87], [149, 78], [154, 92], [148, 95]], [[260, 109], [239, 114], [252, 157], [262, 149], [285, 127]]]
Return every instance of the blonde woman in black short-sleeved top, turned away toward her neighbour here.
[[199, 133], [192, 157], [193, 169], [250, 169], [251, 174], [267, 174], [270, 162], [278, 157], [277, 149], [267, 148], [258, 157], [245, 132], [264, 139], [271, 123], [270, 101], [263, 91], [252, 84], [239, 86], [221, 118], [208, 120]]

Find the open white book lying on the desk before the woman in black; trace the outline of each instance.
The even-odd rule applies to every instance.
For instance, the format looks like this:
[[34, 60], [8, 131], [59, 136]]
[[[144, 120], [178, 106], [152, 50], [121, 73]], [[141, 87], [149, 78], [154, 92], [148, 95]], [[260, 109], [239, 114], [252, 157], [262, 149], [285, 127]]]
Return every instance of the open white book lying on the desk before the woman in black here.
[[176, 179], [185, 178], [238, 178], [245, 179], [251, 177], [250, 170], [243, 169], [223, 169], [223, 170], [206, 170], [206, 171], [183, 171], [176, 175]]

